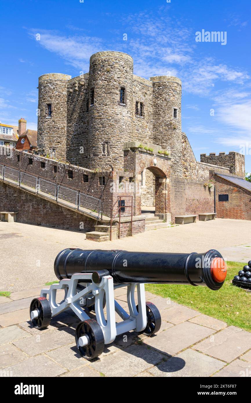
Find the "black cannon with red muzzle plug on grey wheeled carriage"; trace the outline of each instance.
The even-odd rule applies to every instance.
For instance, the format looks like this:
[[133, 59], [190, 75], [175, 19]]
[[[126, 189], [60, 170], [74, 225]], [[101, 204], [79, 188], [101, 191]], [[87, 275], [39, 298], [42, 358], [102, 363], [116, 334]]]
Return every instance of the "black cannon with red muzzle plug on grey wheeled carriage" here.
[[[129, 330], [147, 336], [160, 330], [160, 312], [153, 303], [145, 301], [145, 283], [202, 285], [218, 290], [226, 278], [224, 259], [214, 249], [205, 253], [64, 249], [56, 257], [54, 271], [60, 283], [41, 290], [41, 297], [33, 299], [31, 320], [42, 329], [50, 324], [52, 316], [72, 309], [81, 320], [76, 329], [76, 344], [87, 359], [100, 355], [105, 344]], [[116, 300], [117, 289], [125, 286], [129, 312]], [[64, 289], [65, 296], [61, 303], [56, 303], [59, 289]], [[96, 320], [90, 319], [91, 310], [95, 310]]]

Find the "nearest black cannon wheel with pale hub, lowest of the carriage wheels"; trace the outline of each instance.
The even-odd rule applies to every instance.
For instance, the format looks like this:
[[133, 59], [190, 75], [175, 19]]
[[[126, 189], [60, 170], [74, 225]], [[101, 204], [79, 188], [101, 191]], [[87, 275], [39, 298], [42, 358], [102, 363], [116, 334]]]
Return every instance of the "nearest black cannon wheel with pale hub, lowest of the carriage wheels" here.
[[[79, 338], [87, 336], [88, 345], [81, 347]], [[104, 351], [105, 340], [100, 325], [94, 319], [80, 322], [76, 328], [75, 340], [79, 353], [86, 359], [97, 358]]]

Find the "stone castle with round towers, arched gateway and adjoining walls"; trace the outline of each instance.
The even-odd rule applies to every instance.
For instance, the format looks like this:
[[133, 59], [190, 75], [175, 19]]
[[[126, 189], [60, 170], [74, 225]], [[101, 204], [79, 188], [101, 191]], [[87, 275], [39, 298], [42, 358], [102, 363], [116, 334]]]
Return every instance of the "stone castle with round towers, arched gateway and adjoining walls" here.
[[[145, 231], [145, 206], [153, 207], [163, 225], [175, 223], [177, 216], [212, 212], [251, 219], [245, 156], [233, 151], [196, 160], [181, 128], [177, 77], [138, 77], [131, 56], [107, 51], [91, 56], [89, 73], [40, 76], [38, 90], [37, 152], [28, 162], [23, 156], [20, 166], [14, 154], [13, 166], [100, 199], [106, 218], [116, 215], [118, 197], [126, 204], [133, 197], [133, 224], [125, 208], [122, 236]], [[111, 191], [114, 183], [118, 186]], [[43, 216], [39, 205], [37, 211]], [[53, 213], [56, 226], [62, 226], [62, 214]], [[47, 216], [39, 222], [46, 223]], [[94, 228], [88, 220], [86, 228]]]

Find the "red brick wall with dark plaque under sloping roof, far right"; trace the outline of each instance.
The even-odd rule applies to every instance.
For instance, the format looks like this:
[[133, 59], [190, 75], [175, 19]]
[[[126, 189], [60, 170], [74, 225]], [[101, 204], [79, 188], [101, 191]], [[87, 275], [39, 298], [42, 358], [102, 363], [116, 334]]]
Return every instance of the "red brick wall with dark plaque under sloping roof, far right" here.
[[[251, 220], [251, 192], [215, 175], [218, 218]], [[228, 202], [219, 202], [219, 194], [228, 194]]]

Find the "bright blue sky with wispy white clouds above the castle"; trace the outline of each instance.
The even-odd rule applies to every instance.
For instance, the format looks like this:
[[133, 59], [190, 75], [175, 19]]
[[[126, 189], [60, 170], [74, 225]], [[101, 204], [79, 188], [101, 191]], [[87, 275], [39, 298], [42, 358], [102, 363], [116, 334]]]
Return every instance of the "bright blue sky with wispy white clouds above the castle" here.
[[[14, 0], [0, 8], [2, 123], [24, 117], [36, 129], [39, 75], [75, 77], [91, 54], [117, 50], [133, 56], [137, 75], [180, 77], [182, 127], [197, 160], [245, 146], [251, 172], [250, 1]], [[196, 42], [202, 29], [226, 31], [226, 45]]]

